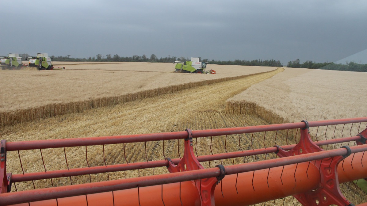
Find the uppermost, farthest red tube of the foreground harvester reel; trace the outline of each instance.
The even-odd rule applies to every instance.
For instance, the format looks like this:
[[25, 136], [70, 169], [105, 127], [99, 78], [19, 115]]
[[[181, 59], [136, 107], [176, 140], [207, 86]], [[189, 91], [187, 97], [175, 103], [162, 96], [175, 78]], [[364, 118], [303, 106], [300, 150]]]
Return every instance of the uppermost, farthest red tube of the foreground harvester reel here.
[[[324, 121], [309, 122], [309, 126], [326, 126], [335, 124], [349, 124], [356, 122], [366, 122], [367, 117], [361, 118], [349, 118], [349, 119], [335, 119]], [[286, 123], [286, 124], [274, 124], [274, 125], [259, 125], [259, 126], [246, 126], [238, 128], [224, 128], [224, 129], [208, 129], [208, 130], [194, 130], [192, 131], [193, 137], [209, 137], [220, 135], [233, 135], [240, 133], [252, 133], [252, 132], [264, 132], [272, 130], [284, 130], [304, 128], [304, 122]], [[142, 135], [122, 135], [122, 136], [106, 136], [106, 137], [84, 137], [73, 139], [54, 139], [54, 140], [34, 140], [34, 141], [19, 141], [19, 142], [7, 142], [7, 151], [16, 150], [34, 150], [45, 148], [57, 148], [57, 147], [77, 147], [77, 146], [91, 146], [102, 144], [121, 144], [121, 143], [133, 143], [143, 141], [159, 141], [159, 140], [171, 140], [171, 139], [183, 139], [188, 136], [187, 132], [167, 132], [167, 133], [153, 133]]]

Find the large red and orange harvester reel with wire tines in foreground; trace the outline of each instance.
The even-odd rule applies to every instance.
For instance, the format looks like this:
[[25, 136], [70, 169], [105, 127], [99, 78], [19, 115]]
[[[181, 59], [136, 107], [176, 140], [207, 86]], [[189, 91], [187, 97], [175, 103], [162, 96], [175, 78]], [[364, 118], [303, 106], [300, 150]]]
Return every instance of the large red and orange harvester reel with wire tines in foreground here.
[[[278, 198], [283, 198], [284, 205], [285, 197], [292, 195], [302, 205], [352, 206], [341, 193], [339, 184], [365, 181], [363, 179], [367, 177], [366, 123], [367, 117], [360, 117], [141, 135], [1, 140], [0, 185], [3, 189], [0, 205], [243, 206]], [[336, 137], [335, 130], [331, 134], [327, 132], [327, 128], [336, 129], [337, 126], [342, 128], [341, 135], [336, 134]], [[319, 138], [324, 136], [325, 140], [317, 139], [317, 135], [311, 137], [310, 130], [319, 132]], [[325, 133], [321, 134], [321, 131]], [[343, 131], [348, 135], [343, 135]], [[252, 137], [260, 137], [264, 146], [254, 144], [254, 148]], [[279, 146], [279, 139], [285, 139], [287, 144]], [[169, 148], [175, 149], [173, 153], [167, 154], [164, 141]], [[225, 150], [213, 153], [213, 141], [224, 142]], [[227, 151], [227, 141], [238, 143], [238, 149]], [[148, 158], [146, 145], [149, 142], [162, 146], [157, 147], [155, 160]], [[175, 142], [176, 147], [170, 146]], [[241, 147], [245, 144], [247, 148]], [[275, 146], [266, 147], [266, 144]], [[121, 148], [121, 159], [125, 161], [110, 164], [105, 158], [109, 156], [105, 150], [109, 145]], [[100, 157], [88, 155], [90, 147], [94, 146], [100, 146]], [[142, 159], [128, 161], [132, 156], [125, 149], [130, 146], [142, 148]], [[68, 147], [70, 150], [65, 150]], [[210, 152], [198, 154], [197, 147], [210, 148]], [[83, 158], [80, 161], [85, 162], [85, 167], [75, 168], [68, 161], [74, 153], [66, 151], [76, 151], [77, 148], [81, 148], [79, 154]], [[46, 170], [49, 165], [44, 161], [42, 151], [45, 149], [63, 150], [62, 157], [55, 157], [52, 163], [64, 165], [64, 168], [57, 166], [56, 170]], [[26, 151], [35, 157], [38, 154], [39, 169], [33, 169], [31, 165], [32, 170], [26, 170], [27, 166], [22, 165], [21, 154]], [[88, 160], [97, 163], [98, 158], [99, 164], [88, 163]], [[235, 158], [240, 158], [240, 163], [235, 163]], [[204, 162], [206, 167], [201, 165]], [[14, 172], [14, 165], [18, 165], [18, 172]], [[157, 174], [157, 168], [168, 171]], [[141, 169], [151, 169], [152, 174], [141, 176]], [[128, 178], [126, 171], [129, 170], [138, 170], [139, 175]], [[123, 173], [120, 178], [110, 180], [112, 172]], [[106, 173], [107, 180], [91, 179], [91, 174]], [[77, 176], [87, 176], [87, 179], [89, 176], [90, 183], [73, 183]], [[64, 177], [68, 177], [66, 180], [70, 180], [70, 184], [54, 185], [52, 179]], [[37, 180], [51, 180], [51, 184], [36, 188], [34, 181]], [[17, 191], [25, 184], [30, 185], [30, 190]]]

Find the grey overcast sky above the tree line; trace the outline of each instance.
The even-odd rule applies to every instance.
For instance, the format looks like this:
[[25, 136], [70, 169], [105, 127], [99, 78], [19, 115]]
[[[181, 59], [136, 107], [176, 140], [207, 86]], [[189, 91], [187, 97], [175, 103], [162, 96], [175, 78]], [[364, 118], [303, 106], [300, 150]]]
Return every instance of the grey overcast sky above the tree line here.
[[366, 11], [366, 0], [13, 0], [0, 55], [335, 62], [367, 49]]

